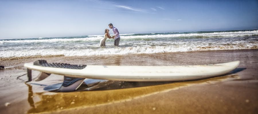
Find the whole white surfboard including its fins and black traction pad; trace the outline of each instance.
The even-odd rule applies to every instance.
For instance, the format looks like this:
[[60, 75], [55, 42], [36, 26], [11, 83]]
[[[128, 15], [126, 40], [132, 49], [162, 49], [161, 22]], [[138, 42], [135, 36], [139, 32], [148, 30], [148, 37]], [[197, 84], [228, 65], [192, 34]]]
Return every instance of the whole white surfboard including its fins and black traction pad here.
[[24, 67], [28, 68], [27, 82], [32, 81], [31, 70], [40, 71], [34, 81], [44, 80], [50, 74], [64, 75], [64, 82], [58, 90], [64, 92], [77, 90], [87, 78], [136, 82], [196, 80], [227, 74], [238, 65], [239, 61], [190, 66], [101, 66], [47, 63], [46, 60], [38, 60], [24, 64]]

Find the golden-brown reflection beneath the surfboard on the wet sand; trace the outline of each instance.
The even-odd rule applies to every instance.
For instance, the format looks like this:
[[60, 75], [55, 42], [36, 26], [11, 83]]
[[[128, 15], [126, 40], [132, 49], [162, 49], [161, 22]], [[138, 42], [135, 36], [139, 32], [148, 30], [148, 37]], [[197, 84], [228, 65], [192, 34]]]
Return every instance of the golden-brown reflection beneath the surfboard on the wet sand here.
[[[105, 87], [98, 89], [99, 91], [77, 91], [68, 93], [56, 93], [54, 95], [49, 94], [49, 92], [36, 93], [36, 95], [40, 97], [40, 101], [35, 103], [36, 107], [31, 105], [32, 107], [30, 110], [28, 110], [28, 113], [48, 113], [65, 109], [69, 110], [120, 103], [124, 101], [130, 101], [132, 99], [154, 95], [157, 93], [168, 92], [193, 84], [216, 83], [226, 80], [227, 78], [238, 78], [238, 75], [227, 74], [224, 76], [207, 78], [203, 80], [182, 82], [116, 82], [111, 85], [111, 87], [113, 86], [115, 88]], [[28, 87], [30, 89], [30, 86]], [[108, 88], [111, 90], [108, 90]], [[33, 104], [34, 102], [31, 101], [33, 99], [31, 99], [30, 96], [31, 94], [29, 91], [28, 101], [29, 103]]]

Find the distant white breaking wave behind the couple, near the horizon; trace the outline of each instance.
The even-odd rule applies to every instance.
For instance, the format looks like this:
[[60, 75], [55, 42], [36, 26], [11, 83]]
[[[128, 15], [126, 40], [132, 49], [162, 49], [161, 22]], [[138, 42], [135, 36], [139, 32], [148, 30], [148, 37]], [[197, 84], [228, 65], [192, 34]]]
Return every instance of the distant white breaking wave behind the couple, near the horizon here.
[[[121, 39], [134, 39], [134, 38], [173, 38], [173, 37], [184, 37], [184, 38], [217, 38], [217, 37], [243, 37], [258, 35], [258, 30], [253, 31], [238, 31], [238, 32], [214, 32], [214, 33], [190, 33], [190, 34], [155, 34], [155, 35], [130, 35], [122, 36]], [[0, 44], [3, 43], [33, 43], [33, 42], [77, 42], [77, 41], [97, 41], [103, 38], [103, 35], [93, 35], [89, 38], [54, 38], [54, 39], [39, 39], [39, 40], [1, 40]]]

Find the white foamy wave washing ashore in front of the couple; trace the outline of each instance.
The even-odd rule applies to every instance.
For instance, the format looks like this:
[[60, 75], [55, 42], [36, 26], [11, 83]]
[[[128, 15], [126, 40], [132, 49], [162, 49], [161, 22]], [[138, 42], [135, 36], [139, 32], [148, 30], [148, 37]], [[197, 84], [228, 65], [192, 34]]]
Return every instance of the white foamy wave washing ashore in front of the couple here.
[[124, 55], [124, 54], [153, 54], [161, 52], [187, 52], [197, 50], [236, 50], [236, 49], [257, 49], [253, 44], [240, 45], [207, 45], [207, 46], [137, 46], [137, 47], [114, 47], [95, 49], [41, 49], [41, 50], [5, 50], [0, 51], [0, 58], [37, 56], [37, 55], [64, 55], [64, 56], [92, 56], [92, 55]]

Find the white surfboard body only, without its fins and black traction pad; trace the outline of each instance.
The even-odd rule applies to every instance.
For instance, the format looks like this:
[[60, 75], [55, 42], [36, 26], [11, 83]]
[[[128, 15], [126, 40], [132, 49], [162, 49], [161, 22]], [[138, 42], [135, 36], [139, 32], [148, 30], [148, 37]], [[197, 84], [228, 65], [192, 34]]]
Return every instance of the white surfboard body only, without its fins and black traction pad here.
[[75, 78], [119, 81], [178, 81], [220, 76], [234, 70], [239, 61], [191, 66], [101, 66], [87, 65], [83, 69], [54, 68], [26, 63], [24, 67], [45, 73]]

